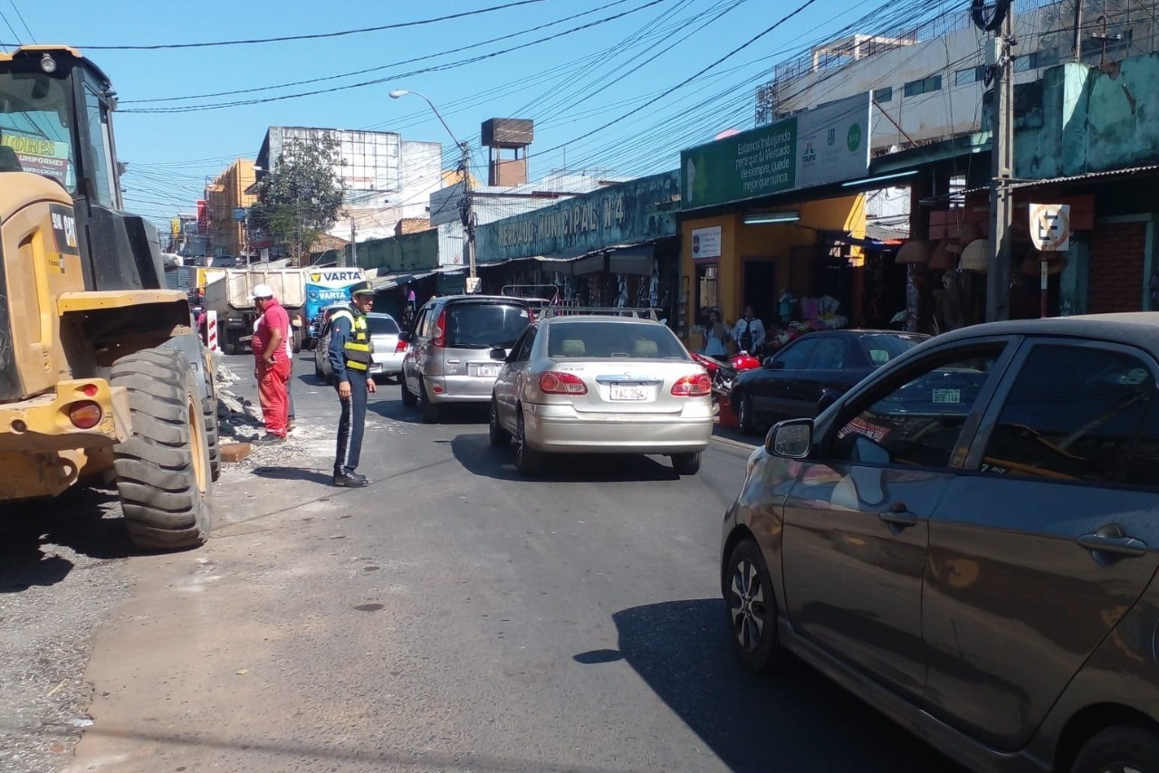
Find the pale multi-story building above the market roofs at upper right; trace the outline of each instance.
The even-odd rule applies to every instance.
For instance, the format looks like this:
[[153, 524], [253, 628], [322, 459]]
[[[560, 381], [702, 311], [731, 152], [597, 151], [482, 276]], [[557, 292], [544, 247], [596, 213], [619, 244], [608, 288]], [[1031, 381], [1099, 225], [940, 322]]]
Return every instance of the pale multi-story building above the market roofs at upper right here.
[[[1159, 0], [1080, 1], [1076, 16], [1076, 0], [1014, 0], [1015, 85], [1063, 61], [1108, 65], [1159, 49]], [[757, 123], [872, 92], [875, 154], [983, 130], [987, 34], [967, 6], [919, 25], [831, 41], [778, 65], [757, 90]]]

